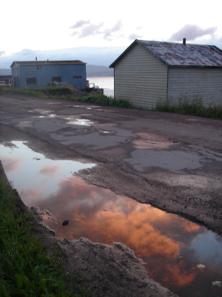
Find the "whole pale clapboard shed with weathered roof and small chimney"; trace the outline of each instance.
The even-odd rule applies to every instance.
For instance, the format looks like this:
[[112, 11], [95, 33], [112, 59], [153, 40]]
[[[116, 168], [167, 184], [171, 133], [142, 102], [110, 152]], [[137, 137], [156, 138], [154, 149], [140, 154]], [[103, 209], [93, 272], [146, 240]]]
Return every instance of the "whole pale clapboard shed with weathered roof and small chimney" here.
[[143, 108], [158, 99], [202, 97], [222, 104], [222, 50], [213, 45], [135, 40], [111, 65], [114, 97]]

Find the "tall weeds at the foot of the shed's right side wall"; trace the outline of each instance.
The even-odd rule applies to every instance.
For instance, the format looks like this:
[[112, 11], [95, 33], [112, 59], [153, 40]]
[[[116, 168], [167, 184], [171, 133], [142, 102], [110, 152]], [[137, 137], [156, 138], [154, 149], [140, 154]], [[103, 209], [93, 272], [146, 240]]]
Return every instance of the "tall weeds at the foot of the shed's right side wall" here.
[[205, 106], [203, 104], [202, 97], [198, 95], [190, 97], [186, 94], [181, 96], [177, 101], [160, 99], [157, 101], [157, 105], [154, 110], [201, 116], [205, 118], [222, 119], [222, 104], [217, 106], [213, 104]]

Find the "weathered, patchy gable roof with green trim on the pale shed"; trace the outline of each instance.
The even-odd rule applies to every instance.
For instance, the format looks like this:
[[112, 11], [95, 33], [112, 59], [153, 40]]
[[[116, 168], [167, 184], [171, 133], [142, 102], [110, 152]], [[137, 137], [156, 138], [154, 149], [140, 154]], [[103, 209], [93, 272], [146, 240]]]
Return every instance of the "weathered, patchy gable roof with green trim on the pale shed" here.
[[222, 67], [222, 50], [214, 45], [197, 45], [135, 40], [111, 65], [114, 67], [123, 55], [138, 43], [153, 56], [168, 66], [197, 66], [197, 67]]

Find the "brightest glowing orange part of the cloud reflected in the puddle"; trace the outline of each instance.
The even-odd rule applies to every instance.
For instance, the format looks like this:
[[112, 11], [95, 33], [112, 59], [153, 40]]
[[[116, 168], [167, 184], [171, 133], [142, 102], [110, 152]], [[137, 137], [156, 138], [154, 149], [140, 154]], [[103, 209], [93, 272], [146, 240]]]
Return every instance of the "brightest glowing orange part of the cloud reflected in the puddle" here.
[[[125, 203], [139, 204], [130, 200]], [[163, 242], [166, 236], [160, 230], [155, 229], [151, 223], [146, 222], [147, 217], [153, 216], [153, 209], [147, 207], [146, 211], [141, 212], [138, 208], [140, 207], [135, 206], [134, 210], [126, 214], [120, 211], [118, 205], [112, 205], [111, 211], [101, 210], [90, 219], [86, 219], [85, 215], [80, 215], [77, 209], [72, 220], [79, 218], [78, 226], [81, 229], [88, 229], [90, 226], [92, 232], [97, 234], [97, 241], [108, 244], [113, 241], [123, 242], [141, 256], [164, 254], [165, 257], [176, 258], [180, 245], [170, 238]], [[155, 215], [158, 217], [158, 212]], [[94, 241], [93, 237], [91, 240]]]

